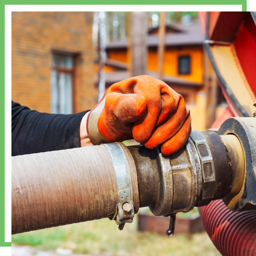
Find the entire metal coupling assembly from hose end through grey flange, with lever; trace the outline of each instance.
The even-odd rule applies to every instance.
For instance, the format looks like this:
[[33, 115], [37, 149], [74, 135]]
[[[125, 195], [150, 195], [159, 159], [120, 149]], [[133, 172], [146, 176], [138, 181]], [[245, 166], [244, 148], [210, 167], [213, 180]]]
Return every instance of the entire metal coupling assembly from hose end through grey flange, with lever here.
[[256, 119], [231, 118], [219, 131], [192, 131], [170, 156], [160, 148], [129, 146], [137, 169], [140, 207], [170, 216], [223, 199], [233, 211], [256, 209]]

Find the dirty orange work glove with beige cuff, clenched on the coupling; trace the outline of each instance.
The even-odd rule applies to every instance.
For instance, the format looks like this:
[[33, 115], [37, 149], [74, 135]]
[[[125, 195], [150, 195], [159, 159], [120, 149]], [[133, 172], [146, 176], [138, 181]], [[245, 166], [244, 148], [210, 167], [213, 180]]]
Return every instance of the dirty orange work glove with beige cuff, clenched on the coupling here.
[[113, 84], [87, 119], [94, 145], [134, 139], [147, 148], [160, 144], [164, 155], [178, 151], [191, 133], [191, 117], [183, 97], [151, 76], [135, 76]]

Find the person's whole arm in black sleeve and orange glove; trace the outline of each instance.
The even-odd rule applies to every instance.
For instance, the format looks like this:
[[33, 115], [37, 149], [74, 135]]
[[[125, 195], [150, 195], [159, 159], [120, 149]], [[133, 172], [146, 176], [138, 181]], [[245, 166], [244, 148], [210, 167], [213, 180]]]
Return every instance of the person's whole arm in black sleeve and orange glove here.
[[93, 110], [77, 114], [31, 111], [11, 101], [11, 156], [135, 139], [163, 154], [189, 138], [183, 97], [163, 81], [137, 76], [113, 84]]

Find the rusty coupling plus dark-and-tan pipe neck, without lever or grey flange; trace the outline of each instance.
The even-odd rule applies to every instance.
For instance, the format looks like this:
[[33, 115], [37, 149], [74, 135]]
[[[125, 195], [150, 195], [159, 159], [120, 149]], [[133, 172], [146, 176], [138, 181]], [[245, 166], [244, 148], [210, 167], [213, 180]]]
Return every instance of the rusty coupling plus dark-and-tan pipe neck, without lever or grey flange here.
[[233, 136], [192, 131], [183, 148], [170, 156], [160, 148], [128, 146], [137, 169], [140, 207], [168, 216], [236, 196], [244, 179], [244, 158]]

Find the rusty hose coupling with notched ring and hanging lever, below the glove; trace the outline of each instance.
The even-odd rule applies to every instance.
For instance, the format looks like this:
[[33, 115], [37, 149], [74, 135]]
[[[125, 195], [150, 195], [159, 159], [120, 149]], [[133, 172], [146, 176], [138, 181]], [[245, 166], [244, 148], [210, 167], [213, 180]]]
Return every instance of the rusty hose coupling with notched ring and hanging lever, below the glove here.
[[174, 234], [177, 212], [189, 212], [214, 198], [212, 155], [199, 131], [192, 131], [186, 145], [170, 156], [164, 156], [159, 147], [149, 150], [135, 145], [128, 149], [137, 168], [140, 207], [148, 206], [157, 216], [170, 216], [167, 237]]

